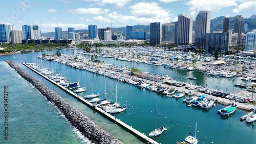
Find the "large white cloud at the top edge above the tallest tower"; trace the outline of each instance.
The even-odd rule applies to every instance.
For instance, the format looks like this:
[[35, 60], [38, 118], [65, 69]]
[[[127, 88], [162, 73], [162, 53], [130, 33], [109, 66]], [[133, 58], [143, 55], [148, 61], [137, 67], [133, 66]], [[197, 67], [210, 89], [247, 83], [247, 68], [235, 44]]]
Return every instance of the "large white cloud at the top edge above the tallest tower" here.
[[[241, 1], [241, 0], [240, 0]], [[243, 0], [242, 0], [243, 1]], [[211, 12], [218, 12], [222, 8], [237, 6], [237, 0], [190, 0], [185, 2], [185, 5], [189, 6], [190, 8], [190, 16], [194, 17], [199, 11], [211, 11]]]

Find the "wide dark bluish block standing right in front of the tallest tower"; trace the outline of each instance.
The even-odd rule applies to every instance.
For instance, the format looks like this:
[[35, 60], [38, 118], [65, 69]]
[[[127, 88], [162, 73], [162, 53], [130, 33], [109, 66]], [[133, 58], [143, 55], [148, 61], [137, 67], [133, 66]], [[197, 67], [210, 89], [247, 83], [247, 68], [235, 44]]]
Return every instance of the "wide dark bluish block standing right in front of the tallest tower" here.
[[219, 49], [222, 54], [228, 51], [228, 33], [206, 33], [204, 50], [212, 53]]

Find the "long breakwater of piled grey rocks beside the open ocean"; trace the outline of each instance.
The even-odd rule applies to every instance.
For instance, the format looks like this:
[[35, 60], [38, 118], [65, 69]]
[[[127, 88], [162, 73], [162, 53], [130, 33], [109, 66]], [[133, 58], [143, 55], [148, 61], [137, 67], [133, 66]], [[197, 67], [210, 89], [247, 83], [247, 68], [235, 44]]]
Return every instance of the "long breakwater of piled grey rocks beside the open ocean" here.
[[28, 74], [24, 69], [20, 68], [17, 64], [13, 63], [11, 60], [6, 60], [6, 62], [14, 68], [20, 76], [29, 81], [38, 91], [40, 91], [49, 102], [54, 104], [63, 115], [65, 115], [72, 126], [76, 127], [82, 135], [87, 137], [93, 143], [122, 143], [120, 140], [96, 125], [90, 118], [76, 110], [75, 107], [62, 99], [56, 92], [52, 91], [46, 85]]

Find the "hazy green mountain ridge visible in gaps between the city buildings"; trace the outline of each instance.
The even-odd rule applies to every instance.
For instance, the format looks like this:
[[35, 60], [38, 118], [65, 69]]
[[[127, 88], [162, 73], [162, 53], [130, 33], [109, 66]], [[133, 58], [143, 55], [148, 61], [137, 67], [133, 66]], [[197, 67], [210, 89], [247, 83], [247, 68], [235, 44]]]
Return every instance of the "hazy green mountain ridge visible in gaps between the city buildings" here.
[[[223, 18], [225, 16], [219, 16], [210, 20], [210, 32], [222, 30], [223, 27]], [[193, 30], [195, 30], [195, 21], [193, 21]], [[248, 32], [256, 29], [256, 15], [252, 15], [249, 18], [245, 18], [245, 23], [248, 24]], [[234, 28], [234, 17], [229, 17], [229, 29]], [[132, 27], [133, 31], [145, 31], [150, 32], [150, 25], [135, 25]], [[125, 27], [112, 28], [113, 33], [126, 33]], [[88, 34], [88, 30], [75, 30], [76, 33], [84, 32]], [[62, 31], [62, 35], [68, 35], [68, 31]], [[42, 33], [42, 36], [54, 37], [54, 32]]]

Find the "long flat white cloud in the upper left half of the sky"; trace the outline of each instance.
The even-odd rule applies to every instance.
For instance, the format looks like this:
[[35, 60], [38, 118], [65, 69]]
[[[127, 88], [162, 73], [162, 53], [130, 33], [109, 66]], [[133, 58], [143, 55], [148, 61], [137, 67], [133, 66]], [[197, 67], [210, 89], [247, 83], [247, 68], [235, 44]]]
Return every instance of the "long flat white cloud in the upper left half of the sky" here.
[[[107, 11], [107, 9], [105, 9], [104, 11]], [[73, 9], [73, 10], [68, 10], [69, 13], [72, 14], [102, 14], [104, 12], [102, 9], [100, 8], [77, 8], [77, 9]]]

